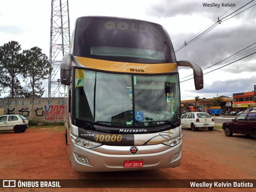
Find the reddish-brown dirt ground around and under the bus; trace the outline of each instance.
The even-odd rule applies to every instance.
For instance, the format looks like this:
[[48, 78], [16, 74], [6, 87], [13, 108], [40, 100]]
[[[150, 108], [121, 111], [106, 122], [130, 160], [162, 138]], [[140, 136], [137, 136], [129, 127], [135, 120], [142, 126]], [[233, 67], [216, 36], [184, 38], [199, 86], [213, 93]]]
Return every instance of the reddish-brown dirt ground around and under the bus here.
[[[66, 152], [64, 131], [47, 128], [26, 132], [0, 133], [1, 179], [256, 179], [256, 140], [238, 135], [230, 138], [223, 131], [183, 130], [182, 163], [176, 168], [128, 172], [74, 172]], [[180, 188], [158, 191], [226, 191], [224, 188]], [[86, 191], [154, 192], [156, 188], [0, 188], [0, 191]], [[232, 188], [232, 192], [256, 191], [256, 188]]]

